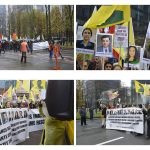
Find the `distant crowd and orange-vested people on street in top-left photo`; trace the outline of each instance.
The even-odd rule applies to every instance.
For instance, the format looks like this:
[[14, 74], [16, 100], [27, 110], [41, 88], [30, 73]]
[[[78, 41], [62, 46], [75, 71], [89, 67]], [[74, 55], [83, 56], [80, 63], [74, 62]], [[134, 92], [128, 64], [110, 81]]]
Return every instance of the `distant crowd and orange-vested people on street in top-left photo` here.
[[[16, 40], [16, 41], [6, 41], [2, 40], [0, 41], [0, 54], [5, 53], [6, 51], [14, 51], [21, 52], [21, 62], [24, 61], [24, 63], [27, 62], [27, 52], [30, 54], [33, 54], [33, 43], [42, 42], [42, 41], [36, 41], [36, 40]], [[51, 61], [54, 57], [57, 59], [59, 56], [63, 60], [64, 57], [62, 55], [62, 47], [61, 42], [59, 41], [49, 41], [49, 60]]]

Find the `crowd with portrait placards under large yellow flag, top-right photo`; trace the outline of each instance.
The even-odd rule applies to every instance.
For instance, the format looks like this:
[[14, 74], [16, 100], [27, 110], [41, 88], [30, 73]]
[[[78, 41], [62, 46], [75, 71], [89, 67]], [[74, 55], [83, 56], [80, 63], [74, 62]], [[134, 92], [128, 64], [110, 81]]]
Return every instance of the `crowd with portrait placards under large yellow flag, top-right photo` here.
[[83, 26], [77, 22], [77, 70], [149, 70], [150, 24], [137, 45], [131, 11], [129, 5], [95, 6]]

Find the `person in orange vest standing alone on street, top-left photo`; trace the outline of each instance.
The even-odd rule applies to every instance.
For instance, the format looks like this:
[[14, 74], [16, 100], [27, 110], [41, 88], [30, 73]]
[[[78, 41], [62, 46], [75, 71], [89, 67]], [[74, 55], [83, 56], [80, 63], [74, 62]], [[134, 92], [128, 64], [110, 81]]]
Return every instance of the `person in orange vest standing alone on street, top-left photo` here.
[[27, 51], [28, 51], [28, 44], [25, 40], [23, 40], [23, 42], [21, 43], [20, 45], [20, 50], [22, 52], [22, 56], [21, 56], [21, 62], [23, 62], [23, 59], [24, 59], [24, 63], [26, 63], [27, 61]]

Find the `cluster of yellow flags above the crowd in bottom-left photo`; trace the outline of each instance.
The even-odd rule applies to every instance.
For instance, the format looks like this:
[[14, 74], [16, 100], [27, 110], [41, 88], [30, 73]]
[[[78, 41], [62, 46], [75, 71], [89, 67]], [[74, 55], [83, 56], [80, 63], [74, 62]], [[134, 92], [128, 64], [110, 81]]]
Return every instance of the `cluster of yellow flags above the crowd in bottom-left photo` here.
[[[40, 88], [38, 86], [39, 80], [32, 80], [32, 87], [30, 89], [30, 81], [29, 80], [17, 80], [16, 86], [13, 87], [12, 85], [8, 88], [6, 92], [4, 92], [3, 97], [7, 97], [7, 99], [12, 100], [12, 96], [17, 96], [16, 91], [19, 89], [23, 89], [23, 93], [29, 93], [29, 100], [34, 102], [35, 101], [35, 95], [40, 95], [40, 89], [46, 89], [46, 80], [40, 80]], [[18, 101], [21, 101], [21, 97], [17, 98]], [[22, 101], [25, 101], [26, 95], [23, 95]]]

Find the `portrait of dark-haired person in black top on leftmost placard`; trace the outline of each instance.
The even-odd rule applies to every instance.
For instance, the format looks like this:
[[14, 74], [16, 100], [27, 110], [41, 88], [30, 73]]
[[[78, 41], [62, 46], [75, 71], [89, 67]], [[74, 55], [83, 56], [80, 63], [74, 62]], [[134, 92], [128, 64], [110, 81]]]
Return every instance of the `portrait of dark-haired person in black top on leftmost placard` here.
[[83, 40], [77, 40], [76, 47], [94, 50], [94, 43], [90, 42], [92, 37], [92, 30], [90, 28], [83, 29], [82, 37]]

